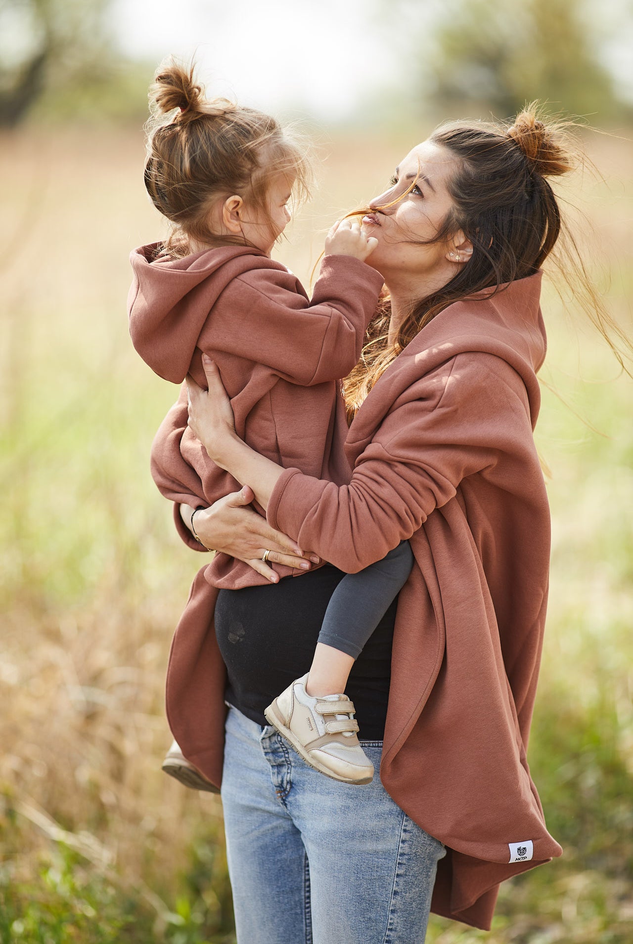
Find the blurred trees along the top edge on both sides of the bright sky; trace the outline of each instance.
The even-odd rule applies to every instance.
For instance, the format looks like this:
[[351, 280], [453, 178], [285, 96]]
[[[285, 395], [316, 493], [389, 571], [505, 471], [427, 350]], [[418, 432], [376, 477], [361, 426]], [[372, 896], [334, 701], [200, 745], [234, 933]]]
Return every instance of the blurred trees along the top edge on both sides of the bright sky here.
[[[614, 30], [631, 32], [631, 0], [367, 6], [407, 62], [398, 110], [445, 115], [474, 105], [506, 117], [538, 98], [599, 125], [631, 116], [633, 90], [618, 81], [609, 45]], [[145, 78], [155, 62], [122, 54], [111, 13], [111, 0], [0, 0], [0, 126], [29, 113], [38, 120], [145, 114]], [[375, 106], [361, 102], [359, 111]], [[392, 108], [385, 98], [378, 103], [379, 112]]]

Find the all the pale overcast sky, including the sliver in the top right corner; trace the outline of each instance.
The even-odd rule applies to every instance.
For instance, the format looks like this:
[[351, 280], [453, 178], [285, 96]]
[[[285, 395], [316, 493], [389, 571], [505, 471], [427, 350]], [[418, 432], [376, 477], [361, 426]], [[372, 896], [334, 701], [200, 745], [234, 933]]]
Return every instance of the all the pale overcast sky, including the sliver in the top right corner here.
[[[630, 0], [587, 2], [603, 57], [633, 101]], [[408, 0], [398, 11], [388, 0], [114, 0], [111, 24], [132, 58], [158, 65], [170, 53], [196, 53], [210, 94], [335, 122], [387, 86], [406, 90], [407, 23], [415, 23], [423, 42], [444, 6], [443, 0]]]

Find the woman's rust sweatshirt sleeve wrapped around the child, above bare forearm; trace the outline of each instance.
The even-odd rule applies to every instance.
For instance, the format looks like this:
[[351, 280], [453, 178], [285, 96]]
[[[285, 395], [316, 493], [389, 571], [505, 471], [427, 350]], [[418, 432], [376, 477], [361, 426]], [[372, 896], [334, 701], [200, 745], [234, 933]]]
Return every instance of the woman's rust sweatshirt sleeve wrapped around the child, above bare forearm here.
[[273, 528], [348, 573], [382, 560], [502, 453], [538, 462], [525, 387], [499, 358], [459, 354], [399, 400], [349, 485], [286, 469], [268, 504]]

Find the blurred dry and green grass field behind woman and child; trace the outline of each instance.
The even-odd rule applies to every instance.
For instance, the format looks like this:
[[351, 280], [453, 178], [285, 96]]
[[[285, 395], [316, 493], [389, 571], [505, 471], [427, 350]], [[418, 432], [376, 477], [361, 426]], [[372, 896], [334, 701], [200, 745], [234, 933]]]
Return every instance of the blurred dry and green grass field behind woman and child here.
[[[319, 192], [279, 258], [307, 281], [323, 229], [422, 136], [322, 141]], [[592, 265], [630, 335], [632, 149], [588, 147], [606, 178], [582, 187]], [[148, 472], [177, 390], [128, 338], [128, 250], [163, 234], [142, 163], [132, 132], [0, 138], [3, 944], [233, 940], [220, 802], [160, 772], [169, 643], [200, 558]], [[567, 405], [544, 390], [554, 554], [530, 745], [564, 856], [505, 884], [490, 935], [432, 919], [435, 944], [633, 940], [633, 382], [567, 308], [548, 285], [543, 377]]]

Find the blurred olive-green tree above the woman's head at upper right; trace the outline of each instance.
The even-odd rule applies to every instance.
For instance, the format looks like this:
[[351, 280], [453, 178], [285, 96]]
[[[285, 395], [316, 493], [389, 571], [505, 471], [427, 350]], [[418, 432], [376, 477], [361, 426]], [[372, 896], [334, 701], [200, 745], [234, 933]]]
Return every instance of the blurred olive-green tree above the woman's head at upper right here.
[[448, 0], [426, 62], [444, 105], [507, 117], [539, 98], [575, 114], [617, 110], [612, 76], [579, 0]]

